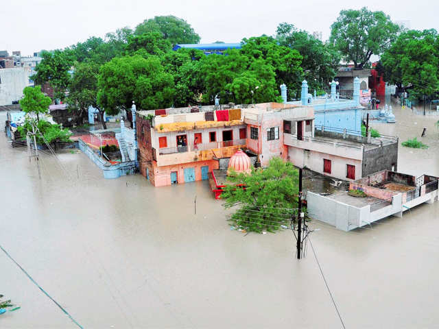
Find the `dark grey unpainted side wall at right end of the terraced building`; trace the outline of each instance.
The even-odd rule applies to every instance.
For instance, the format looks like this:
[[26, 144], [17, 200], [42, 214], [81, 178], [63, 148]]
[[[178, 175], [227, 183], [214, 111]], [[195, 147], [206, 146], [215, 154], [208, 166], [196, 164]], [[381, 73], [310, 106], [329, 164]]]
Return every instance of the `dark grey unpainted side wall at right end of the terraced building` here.
[[385, 169], [392, 170], [392, 164], [394, 164], [394, 171], [398, 170], [397, 142], [384, 145], [383, 147], [365, 150], [361, 171], [363, 176], [366, 176]]

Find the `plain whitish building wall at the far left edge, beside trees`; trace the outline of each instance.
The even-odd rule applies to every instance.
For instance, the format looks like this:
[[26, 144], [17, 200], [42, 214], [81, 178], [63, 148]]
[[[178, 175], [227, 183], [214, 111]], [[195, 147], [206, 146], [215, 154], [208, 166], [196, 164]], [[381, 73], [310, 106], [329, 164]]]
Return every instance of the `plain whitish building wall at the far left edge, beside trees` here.
[[29, 71], [23, 67], [0, 69], [0, 106], [19, 101], [28, 85]]

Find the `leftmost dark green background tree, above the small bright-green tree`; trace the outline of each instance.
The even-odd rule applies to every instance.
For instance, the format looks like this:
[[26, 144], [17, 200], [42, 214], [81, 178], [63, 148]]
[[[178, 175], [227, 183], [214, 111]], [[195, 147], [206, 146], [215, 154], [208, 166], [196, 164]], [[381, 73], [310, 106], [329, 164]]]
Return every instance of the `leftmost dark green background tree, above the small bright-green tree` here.
[[36, 84], [49, 82], [50, 86], [54, 88], [54, 96], [64, 99], [70, 80], [69, 70], [73, 64], [71, 53], [60, 50], [46, 51], [41, 57], [43, 60], [36, 66], [36, 74], [32, 75], [32, 80]]

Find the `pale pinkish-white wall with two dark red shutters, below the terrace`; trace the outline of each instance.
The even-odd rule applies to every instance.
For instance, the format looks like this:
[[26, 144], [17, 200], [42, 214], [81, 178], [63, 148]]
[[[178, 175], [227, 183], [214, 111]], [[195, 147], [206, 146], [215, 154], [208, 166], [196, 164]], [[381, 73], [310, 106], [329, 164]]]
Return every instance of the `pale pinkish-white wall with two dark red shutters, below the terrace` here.
[[[288, 161], [296, 167], [308, 168], [322, 175], [338, 178], [340, 180], [349, 180], [346, 178], [348, 167], [347, 164], [355, 166], [355, 180], [361, 178], [361, 160], [353, 158], [344, 158], [333, 154], [321, 153], [318, 151], [305, 151], [298, 147], [288, 147]], [[323, 160], [331, 160], [331, 173], [323, 172]]]

